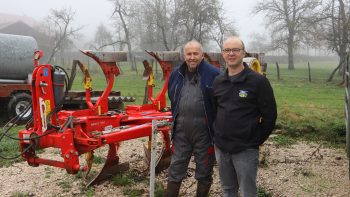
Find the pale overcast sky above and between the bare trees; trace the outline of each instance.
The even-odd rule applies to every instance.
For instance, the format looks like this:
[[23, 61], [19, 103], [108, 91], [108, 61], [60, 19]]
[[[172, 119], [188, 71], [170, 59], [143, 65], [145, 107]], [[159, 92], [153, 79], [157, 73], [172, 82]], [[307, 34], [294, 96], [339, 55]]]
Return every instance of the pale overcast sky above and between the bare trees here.
[[[235, 21], [241, 38], [247, 43], [252, 33], [264, 32], [261, 15], [252, 15], [256, 0], [223, 0], [228, 17]], [[84, 26], [82, 33], [91, 40], [96, 27], [110, 24], [112, 2], [108, 0], [9, 0], [0, 6], [1, 13], [30, 16], [38, 21], [49, 14], [51, 8], [71, 7], [76, 10], [75, 25]]]

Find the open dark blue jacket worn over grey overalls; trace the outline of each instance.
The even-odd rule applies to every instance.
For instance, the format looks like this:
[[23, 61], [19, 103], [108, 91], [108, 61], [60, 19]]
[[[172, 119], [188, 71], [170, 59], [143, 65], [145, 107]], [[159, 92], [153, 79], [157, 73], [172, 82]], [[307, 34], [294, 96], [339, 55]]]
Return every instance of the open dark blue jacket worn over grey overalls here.
[[[171, 102], [171, 111], [174, 121], [174, 128], [176, 116], [178, 114], [178, 104], [181, 94], [182, 87], [185, 80], [185, 72], [187, 69], [187, 64], [184, 62], [180, 66], [176, 67], [170, 75], [168, 83], [168, 96]], [[212, 123], [214, 121], [214, 110], [212, 105], [212, 85], [215, 77], [220, 74], [220, 70], [206, 61], [198, 65], [198, 74], [200, 75], [200, 86], [202, 90], [203, 100], [204, 100], [204, 110], [208, 121], [208, 129], [210, 131], [210, 136], [213, 136]], [[174, 131], [174, 129], [173, 129]]]

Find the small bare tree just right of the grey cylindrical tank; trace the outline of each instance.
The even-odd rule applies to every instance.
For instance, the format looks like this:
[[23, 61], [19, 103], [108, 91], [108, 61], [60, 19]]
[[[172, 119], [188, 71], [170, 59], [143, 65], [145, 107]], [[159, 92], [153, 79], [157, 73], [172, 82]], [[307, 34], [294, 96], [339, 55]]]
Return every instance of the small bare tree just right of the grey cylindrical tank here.
[[50, 14], [45, 20], [47, 25], [47, 33], [53, 38], [53, 47], [48, 63], [51, 63], [57, 52], [62, 51], [72, 43], [72, 39], [78, 37], [78, 32], [82, 29], [82, 27], [72, 27], [74, 15], [75, 12], [70, 8], [50, 10]]

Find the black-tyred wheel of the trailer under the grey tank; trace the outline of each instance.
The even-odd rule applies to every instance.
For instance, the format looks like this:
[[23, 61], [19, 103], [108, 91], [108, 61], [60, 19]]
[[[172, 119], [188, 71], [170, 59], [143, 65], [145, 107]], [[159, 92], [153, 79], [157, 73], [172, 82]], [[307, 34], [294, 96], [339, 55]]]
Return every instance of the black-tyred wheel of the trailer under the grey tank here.
[[[33, 115], [33, 111], [31, 108], [32, 97], [27, 93], [17, 93], [12, 95], [8, 105], [7, 112], [10, 119], [15, 116], [21, 116], [18, 120], [18, 123], [27, 122]], [[30, 109], [25, 114], [21, 114], [27, 106], [30, 106]]]

